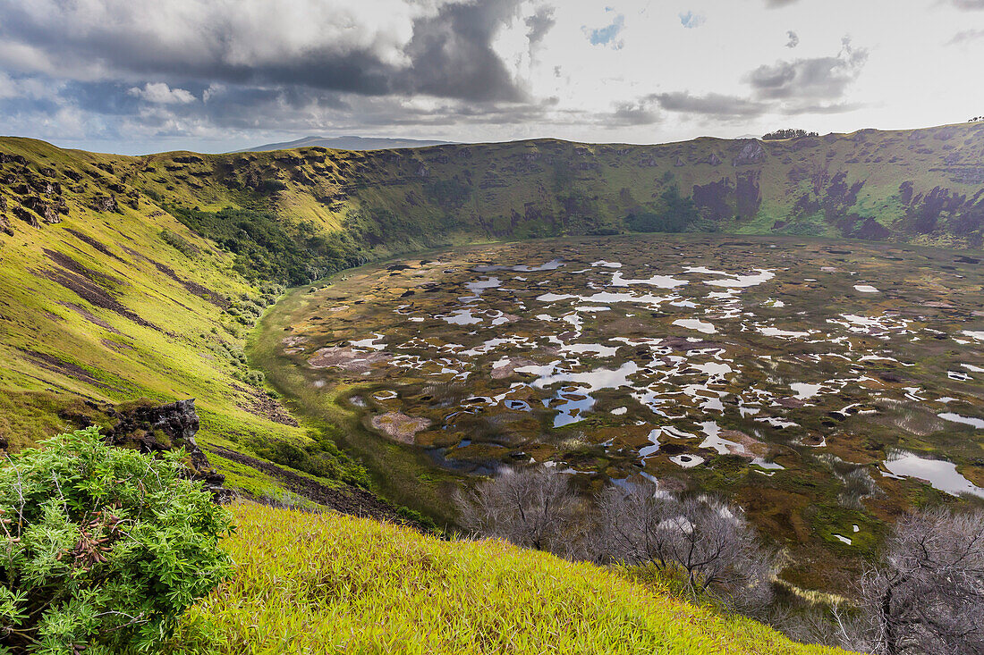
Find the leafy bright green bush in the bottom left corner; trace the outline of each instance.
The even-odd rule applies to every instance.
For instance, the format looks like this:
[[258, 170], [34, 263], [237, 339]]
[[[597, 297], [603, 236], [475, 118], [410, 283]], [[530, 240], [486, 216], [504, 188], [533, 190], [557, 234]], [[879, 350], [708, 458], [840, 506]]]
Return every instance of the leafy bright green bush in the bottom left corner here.
[[61, 435], [0, 468], [0, 653], [149, 650], [231, 571], [184, 453]]

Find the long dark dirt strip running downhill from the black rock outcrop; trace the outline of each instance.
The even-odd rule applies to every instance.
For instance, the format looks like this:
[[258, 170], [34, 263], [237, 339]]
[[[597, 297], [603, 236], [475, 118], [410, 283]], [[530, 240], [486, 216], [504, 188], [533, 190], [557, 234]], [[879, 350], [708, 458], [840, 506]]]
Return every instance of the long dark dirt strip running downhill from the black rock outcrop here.
[[364, 489], [347, 485], [335, 489], [315, 482], [289, 469], [280, 468], [276, 464], [263, 461], [262, 459], [249, 457], [218, 446], [212, 446], [209, 449], [220, 457], [230, 459], [250, 468], [255, 468], [258, 471], [263, 471], [277, 478], [287, 491], [303, 496], [318, 505], [330, 507], [338, 511], [338, 513], [373, 518], [378, 521], [387, 521], [390, 523], [399, 523], [400, 525], [406, 525], [421, 532], [426, 532], [426, 528], [423, 525], [404, 518], [395, 507], [390, 506]]

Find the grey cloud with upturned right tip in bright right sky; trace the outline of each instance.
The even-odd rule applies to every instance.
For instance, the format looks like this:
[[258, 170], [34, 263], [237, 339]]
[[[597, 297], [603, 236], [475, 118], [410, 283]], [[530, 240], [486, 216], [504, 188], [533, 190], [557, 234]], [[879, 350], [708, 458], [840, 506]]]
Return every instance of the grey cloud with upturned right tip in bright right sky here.
[[745, 80], [761, 98], [832, 101], [857, 80], [867, 61], [868, 51], [844, 38], [836, 56], [777, 61], [751, 71]]

